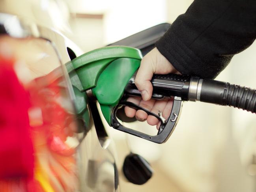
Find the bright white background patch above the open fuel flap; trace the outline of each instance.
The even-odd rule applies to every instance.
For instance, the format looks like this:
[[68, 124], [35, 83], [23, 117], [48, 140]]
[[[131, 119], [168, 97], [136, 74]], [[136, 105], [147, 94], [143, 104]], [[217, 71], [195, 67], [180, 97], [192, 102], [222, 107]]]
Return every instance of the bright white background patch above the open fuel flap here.
[[112, 43], [166, 22], [166, 1], [111, 0], [104, 14], [104, 43]]

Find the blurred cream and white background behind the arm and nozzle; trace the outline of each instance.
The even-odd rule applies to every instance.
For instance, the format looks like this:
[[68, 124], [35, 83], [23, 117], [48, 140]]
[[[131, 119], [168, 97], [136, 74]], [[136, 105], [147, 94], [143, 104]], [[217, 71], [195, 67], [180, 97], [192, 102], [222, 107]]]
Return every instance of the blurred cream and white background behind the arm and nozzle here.
[[[54, 2], [42, 0], [41, 6], [45, 11], [52, 6], [62, 7], [62, 15], [68, 24], [63, 27], [60, 24], [63, 18], [58, 17], [52, 22], [87, 52], [151, 26], [172, 23], [187, 10], [192, 0]], [[255, 53], [256, 43], [234, 56], [217, 80], [256, 88]], [[152, 179], [142, 186], [121, 178], [121, 192], [254, 192], [255, 125], [255, 114], [196, 102], [183, 104], [176, 130], [165, 144], [153, 144], [108, 127], [107, 131], [116, 144], [119, 170], [131, 150], [146, 158], [155, 171]], [[131, 126], [155, 129], [146, 123]]]

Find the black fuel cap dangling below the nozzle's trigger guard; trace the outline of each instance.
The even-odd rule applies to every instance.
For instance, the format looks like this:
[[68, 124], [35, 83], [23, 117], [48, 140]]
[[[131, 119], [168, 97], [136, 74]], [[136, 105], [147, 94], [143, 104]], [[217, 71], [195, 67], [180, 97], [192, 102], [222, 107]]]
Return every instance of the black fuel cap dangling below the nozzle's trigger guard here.
[[143, 157], [130, 153], [123, 162], [123, 173], [131, 183], [142, 185], [152, 177], [153, 169]]

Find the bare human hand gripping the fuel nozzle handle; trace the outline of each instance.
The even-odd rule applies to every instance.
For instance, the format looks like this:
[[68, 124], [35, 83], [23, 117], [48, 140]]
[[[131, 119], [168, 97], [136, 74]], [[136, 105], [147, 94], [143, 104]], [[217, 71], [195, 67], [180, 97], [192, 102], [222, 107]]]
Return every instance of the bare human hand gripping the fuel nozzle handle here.
[[[143, 100], [140, 97], [129, 97], [127, 101], [139, 104], [143, 108], [146, 108], [155, 114], [158, 114], [160, 111], [162, 112], [163, 117], [167, 119], [172, 110], [173, 100], [156, 101], [154, 99], [150, 99], [153, 91], [153, 86], [150, 80], [153, 74], [168, 73], [180, 74], [159, 52], [159, 50], [157, 50], [157, 48], [153, 48], [153, 50], [142, 58], [140, 68], [138, 69], [138, 73], [135, 78], [135, 85], [140, 91]], [[147, 120], [149, 125], [157, 125], [157, 129], [159, 129], [161, 125], [161, 122], [156, 117], [148, 116], [148, 114], [142, 110], [136, 111], [135, 109], [126, 106], [125, 114], [127, 117], [135, 116], [138, 121]]]

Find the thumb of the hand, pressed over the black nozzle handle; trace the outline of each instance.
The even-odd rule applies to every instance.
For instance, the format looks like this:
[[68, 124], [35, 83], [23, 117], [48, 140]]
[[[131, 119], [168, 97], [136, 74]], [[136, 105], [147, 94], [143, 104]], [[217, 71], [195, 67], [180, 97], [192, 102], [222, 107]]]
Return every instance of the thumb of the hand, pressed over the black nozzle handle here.
[[135, 85], [140, 91], [142, 95], [142, 99], [144, 101], [148, 101], [151, 98], [153, 87], [150, 82], [153, 76], [153, 68], [152, 64], [150, 64], [151, 60], [145, 56], [140, 63], [140, 68], [138, 69]]

